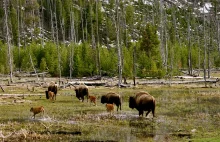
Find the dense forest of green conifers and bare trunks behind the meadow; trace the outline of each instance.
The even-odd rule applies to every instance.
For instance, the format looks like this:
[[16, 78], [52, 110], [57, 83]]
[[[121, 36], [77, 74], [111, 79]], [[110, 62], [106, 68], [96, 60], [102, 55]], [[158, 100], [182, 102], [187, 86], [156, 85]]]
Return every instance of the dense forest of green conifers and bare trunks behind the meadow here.
[[2, 0], [0, 73], [210, 77], [219, 14], [219, 0]]

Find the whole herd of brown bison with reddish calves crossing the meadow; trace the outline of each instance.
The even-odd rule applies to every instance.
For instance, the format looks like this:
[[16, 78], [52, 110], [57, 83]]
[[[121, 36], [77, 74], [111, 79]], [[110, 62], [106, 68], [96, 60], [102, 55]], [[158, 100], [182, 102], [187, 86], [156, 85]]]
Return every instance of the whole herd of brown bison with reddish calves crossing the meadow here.
[[[50, 84], [48, 90], [45, 91], [46, 98], [54, 102], [54, 100], [56, 100], [57, 91], [57, 85], [54, 83]], [[96, 105], [96, 97], [89, 94], [89, 89], [86, 85], [74, 86], [74, 91], [76, 98], [82, 102], [86, 98], [87, 102], [90, 100], [90, 103]], [[111, 114], [114, 110], [114, 105], [117, 106], [117, 111], [119, 109], [121, 110], [122, 98], [117, 93], [109, 92], [101, 96], [101, 103], [106, 104], [106, 110]], [[143, 116], [144, 111], [146, 111], [146, 117], [150, 112], [152, 112], [153, 117], [155, 117], [155, 98], [147, 92], [138, 92], [134, 96], [129, 97], [129, 108], [137, 109], [139, 116]], [[43, 107], [31, 108], [30, 111], [34, 113], [33, 117], [35, 118], [35, 115], [43, 112], [44, 109]]]

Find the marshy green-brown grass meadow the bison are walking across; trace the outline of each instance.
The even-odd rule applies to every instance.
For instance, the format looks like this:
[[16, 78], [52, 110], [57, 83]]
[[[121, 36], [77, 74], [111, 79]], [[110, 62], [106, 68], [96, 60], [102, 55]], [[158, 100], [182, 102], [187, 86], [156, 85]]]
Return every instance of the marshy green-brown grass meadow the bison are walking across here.
[[[180, 142], [220, 141], [220, 89], [197, 85], [138, 85], [135, 88], [89, 87], [97, 106], [81, 102], [73, 88], [58, 91], [53, 103], [46, 88], [7, 86], [0, 92], [0, 141]], [[100, 98], [107, 92], [122, 96], [122, 110], [110, 115]], [[156, 117], [139, 117], [128, 107], [129, 96], [147, 91], [156, 99]], [[31, 118], [31, 107], [45, 113]]]

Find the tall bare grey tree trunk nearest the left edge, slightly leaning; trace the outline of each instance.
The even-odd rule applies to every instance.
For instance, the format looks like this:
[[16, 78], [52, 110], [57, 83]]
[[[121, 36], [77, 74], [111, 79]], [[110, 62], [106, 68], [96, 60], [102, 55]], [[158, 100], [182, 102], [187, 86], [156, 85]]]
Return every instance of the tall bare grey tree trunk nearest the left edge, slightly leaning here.
[[6, 26], [6, 41], [8, 45], [8, 63], [10, 68], [10, 83], [13, 83], [13, 54], [11, 53], [11, 36], [10, 36], [10, 29], [8, 23], [8, 0], [4, 0], [4, 11], [5, 11], [5, 26]]

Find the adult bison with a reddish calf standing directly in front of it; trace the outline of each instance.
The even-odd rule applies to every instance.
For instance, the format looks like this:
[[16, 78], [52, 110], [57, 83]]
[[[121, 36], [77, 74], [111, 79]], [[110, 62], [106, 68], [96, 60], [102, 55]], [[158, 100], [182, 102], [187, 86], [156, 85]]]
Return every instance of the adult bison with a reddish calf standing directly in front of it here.
[[117, 111], [119, 107], [121, 110], [121, 97], [120, 95], [116, 93], [110, 92], [110, 93], [107, 93], [106, 95], [103, 95], [101, 97], [101, 103], [102, 104], [104, 103], [113, 104], [114, 103], [117, 106]]

